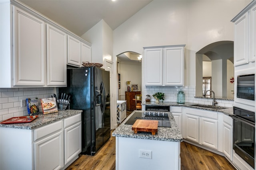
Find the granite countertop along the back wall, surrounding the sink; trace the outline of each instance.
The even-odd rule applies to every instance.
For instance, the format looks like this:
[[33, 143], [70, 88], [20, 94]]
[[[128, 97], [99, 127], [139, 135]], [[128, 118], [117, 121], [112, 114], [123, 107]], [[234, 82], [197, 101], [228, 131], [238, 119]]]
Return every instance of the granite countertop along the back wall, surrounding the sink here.
[[[233, 115], [233, 107], [226, 107], [226, 109], [212, 109], [212, 108], [205, 108], [205, 107], [197, 107], [197, 106], [191, 106], [196, 103], [189, 103], [186, 102], [184, 104], [178, 104], [177, 102], [142, 102], [141, 105], [148, 105], [148, 106], [182, 106], [182, 107], [190, 107], [194, 109], [202, 109], [202, 110], [208, 110], [208, 111], [218, 111], [221, 113], [224, 113], [225, 115]], [[216, 107], [222, 107], [222, 106], [216, 106]]]

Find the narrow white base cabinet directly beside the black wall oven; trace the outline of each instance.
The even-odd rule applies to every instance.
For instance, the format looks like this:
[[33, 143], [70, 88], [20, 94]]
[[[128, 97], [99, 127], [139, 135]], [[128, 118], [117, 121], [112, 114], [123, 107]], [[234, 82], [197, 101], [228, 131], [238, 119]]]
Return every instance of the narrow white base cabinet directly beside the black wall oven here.
[[233, 119], [228, 115], [223, 114], [222, 124], [222, 152], [231, 161], [233, 159]]

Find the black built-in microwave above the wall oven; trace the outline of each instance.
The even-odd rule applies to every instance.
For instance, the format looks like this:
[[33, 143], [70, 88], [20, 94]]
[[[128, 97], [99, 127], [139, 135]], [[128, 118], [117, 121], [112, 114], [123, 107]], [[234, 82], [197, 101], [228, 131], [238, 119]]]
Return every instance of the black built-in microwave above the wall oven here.
[[247, 100], [255, 100], [254, 82], [254, 74], [237, 76], [236, 97]]

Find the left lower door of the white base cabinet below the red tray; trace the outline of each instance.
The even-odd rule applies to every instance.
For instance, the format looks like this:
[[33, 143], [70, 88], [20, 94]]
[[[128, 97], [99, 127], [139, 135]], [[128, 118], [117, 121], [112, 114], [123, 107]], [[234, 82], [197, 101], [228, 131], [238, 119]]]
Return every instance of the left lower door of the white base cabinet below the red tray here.
[[58, 170], [63, 162], [62, 131], [34, 143], [35, 170]]

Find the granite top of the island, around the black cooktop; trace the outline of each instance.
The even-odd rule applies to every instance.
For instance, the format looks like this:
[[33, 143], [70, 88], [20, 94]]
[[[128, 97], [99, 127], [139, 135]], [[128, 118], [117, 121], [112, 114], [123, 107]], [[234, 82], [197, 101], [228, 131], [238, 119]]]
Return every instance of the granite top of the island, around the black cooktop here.
[[150, 132], [138, 132], [134, 133], [132, 130], [132, 125], [125, 125], [126, 121], [134, 114], [134, 112], [144, 112], [141, 110], [133, 111], [121, 125], [119, 125], [116, 130], [112, 133], [112, 136], [115, 137], [128, 137], [128, 138], [137, 138], [137, 139], [152, 139], [158, 141], [172, 141], [172, 142], [182, 142], [182, 135], [178, 129], [178, 125], [171, 112], [168, 113], [171, 127], [158, 127], [158, 131], [155, 135], [152, 135]]

